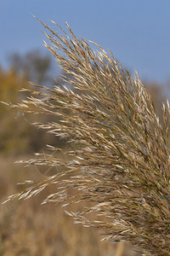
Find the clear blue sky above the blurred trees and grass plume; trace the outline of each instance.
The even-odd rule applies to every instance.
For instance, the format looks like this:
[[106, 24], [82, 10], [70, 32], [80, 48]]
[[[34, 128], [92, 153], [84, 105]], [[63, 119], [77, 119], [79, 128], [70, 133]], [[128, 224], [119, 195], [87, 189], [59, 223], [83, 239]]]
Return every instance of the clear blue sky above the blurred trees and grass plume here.
[[170, 81], [169, 0], [0, 0], [0, 65], [8, 55], [42, 49], [42, 25], [69, 23], [77, 37], [111, 49], [141, 79]]

